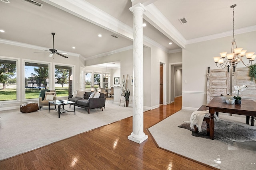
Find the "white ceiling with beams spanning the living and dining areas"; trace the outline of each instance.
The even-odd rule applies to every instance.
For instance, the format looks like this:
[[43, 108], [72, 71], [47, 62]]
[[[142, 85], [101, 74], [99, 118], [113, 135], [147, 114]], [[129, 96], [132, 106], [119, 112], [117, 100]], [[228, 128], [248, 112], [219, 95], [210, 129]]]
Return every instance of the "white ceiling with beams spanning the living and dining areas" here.
[[[1, 42], [17, 41], [35, 45], [35, 51], [48, 50], [52, 49], [51, 33], [54, 32], [56, 33], [54, 49], [58, 52], [65, 51], [68, 57], [79, 56], [85, 60], [132, 48], [130, 33], [133, 15], [129, 10], [132, 6], [130, 0], [69, 2], [36, 0], [43, 4], [42, 8], [24, 0], [9, 1], [8, 4], [0, 1], [0, 29], [5, 31], [0, 33]], [[198, 39], [232, 35], [233, 20], [230, 6], [233, 4], [237, 4], [235, 7], [237, 33], [256, 30], [256, 0], [141, 0], [140, 2], [148, 8], [144, 14], [144, 22], [147, 24], [143, 28], [144, 39], [170, 53], [181, 51], [181, 47], [184, 48], [182, 44], [186, 45]], [[74, 5], [72, 8], [74, 10], [66, 7], [65, 3]], [[91, 15], [90, 11], [92, 11]], [[155, 12], [159, 22], [148, 15], [152, 11]], [[109, 18], [109, 20], [102, 19], [106, 20], [105, 24], [99, 21], [100, 17], [98, 17], [104, 13], [106, 18]], [[188, 23], [180, 23], [178, 19], [183, 17], [186, 17]], [[102, 34], [102, 37], [98, 37], [98, 34]], [[112, 34], [118, 35], [119, 38], [112, 37]], [[169, 42], [172, 42], [172, 45], [169, 45]], [[103, 65], [106, 66], [106, 63]]]

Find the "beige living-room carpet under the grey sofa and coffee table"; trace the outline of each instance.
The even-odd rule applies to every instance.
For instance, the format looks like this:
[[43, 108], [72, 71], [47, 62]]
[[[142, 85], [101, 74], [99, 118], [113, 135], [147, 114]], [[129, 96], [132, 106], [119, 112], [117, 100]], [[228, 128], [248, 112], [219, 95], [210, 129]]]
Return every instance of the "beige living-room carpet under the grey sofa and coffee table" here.
[[[54, 108], [54, 106], [51, 106]], [[74, 110], [74, 106], [64, 109]], [[43, 107], [40, 111], [21, 113], [19, 109], [0, 113], [0, 160], [34, 150], [56, 141], [108, 125], [132, 116], [132, 107], [106, 103], [106, 108], [88, 111], [76, 107], [58, 118], [58, 112]]]

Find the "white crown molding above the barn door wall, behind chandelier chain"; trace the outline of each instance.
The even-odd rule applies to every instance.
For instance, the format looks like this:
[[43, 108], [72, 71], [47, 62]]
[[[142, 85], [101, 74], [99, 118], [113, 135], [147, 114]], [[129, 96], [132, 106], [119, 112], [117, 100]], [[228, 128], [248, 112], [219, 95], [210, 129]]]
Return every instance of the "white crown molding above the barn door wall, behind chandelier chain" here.
[[[252, 31], [256, 31], [256, 25], [253, 25], [250, 27], [244, 27], [244, 28], [240, 28], [240, 29], [235, 29], [235, 35], [242, 34], [242, 33], [248, 33], [248, 32], [252, 32]], [[204, 36], [204, 37], [199, 37], [199, 38], [195, 38], [195, 39], [189, 39], [186, 41], [186, 44], [199, 43], [202, 41], [208, 41], [208, 40], [218, 39], [218, 38], [222, 38], [222, 37], [228, 37], [228, 36], [232, 36], [232, 35], [233, 35], [233, 30], [226, 31], [223, 33], [208, 35], [208, 36]]]

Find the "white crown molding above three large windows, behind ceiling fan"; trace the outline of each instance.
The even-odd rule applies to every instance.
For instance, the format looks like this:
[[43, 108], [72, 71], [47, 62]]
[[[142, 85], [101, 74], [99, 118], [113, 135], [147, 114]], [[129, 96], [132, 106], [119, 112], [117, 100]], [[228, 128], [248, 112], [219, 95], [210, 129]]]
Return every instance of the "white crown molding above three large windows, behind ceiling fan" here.
[[[19, 46], [19, 47], [26, 47], [26, 48], [30, 48], [30, 49], [42, 50], [42, 51], [44, 51], [46, 49], [49, 49], [47, 47], [40, 47], [40, 46], [37, 46], [37, 45], [20, 43], [20, 42], [11, 41], [11, 40], [8, 40], [8, 39], [0, 39], [0, 43], [15, 45], [15, 46]], [[75, 56], [75, 57], [82, 57], [80, 54], [77, 54], [77, 53], [71, 53], [71, 52], [68, 52], [68, 51], [63, 51], [63, 50], [58, 50], [58, 49], [56, 49], [56, 50], [67, 53], [68, 55], [72, 55], [72, 56]], [[84, 57], [82, 57], [82, 58], [84, 58]]]

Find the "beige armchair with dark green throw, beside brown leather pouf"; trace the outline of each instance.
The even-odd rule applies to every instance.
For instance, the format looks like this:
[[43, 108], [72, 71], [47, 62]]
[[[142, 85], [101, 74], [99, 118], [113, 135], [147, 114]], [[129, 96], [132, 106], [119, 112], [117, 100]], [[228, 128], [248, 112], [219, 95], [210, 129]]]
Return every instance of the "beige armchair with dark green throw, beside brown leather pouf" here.
[[[49, 101], [51, 100], [57, 100], [56, 90], [41, 90], [38, 98], [39, 110], [41, 110], [43, 106], [49, 106]], [[53, 106], [53, 104], [51, 105]]]

